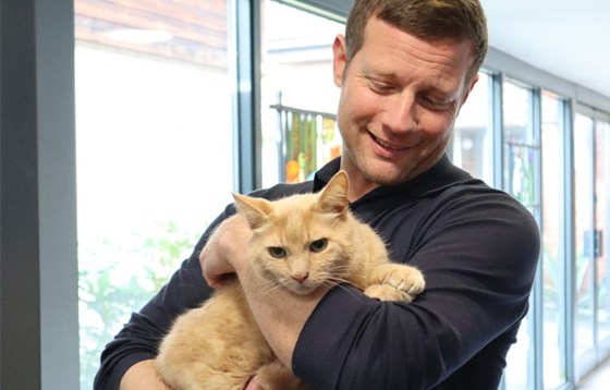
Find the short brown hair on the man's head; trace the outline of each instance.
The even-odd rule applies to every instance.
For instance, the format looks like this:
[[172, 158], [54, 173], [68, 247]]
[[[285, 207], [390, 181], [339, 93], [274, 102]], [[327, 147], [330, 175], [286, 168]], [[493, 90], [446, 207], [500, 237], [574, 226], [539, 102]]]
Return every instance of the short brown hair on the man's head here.
[[471, 80], [487, 53], [487, 19], [479, 0], [354, 0], [345, 25], [347, 62], [362, 48], [364, 29], [373, 15], [422, 39], [469, 40]]

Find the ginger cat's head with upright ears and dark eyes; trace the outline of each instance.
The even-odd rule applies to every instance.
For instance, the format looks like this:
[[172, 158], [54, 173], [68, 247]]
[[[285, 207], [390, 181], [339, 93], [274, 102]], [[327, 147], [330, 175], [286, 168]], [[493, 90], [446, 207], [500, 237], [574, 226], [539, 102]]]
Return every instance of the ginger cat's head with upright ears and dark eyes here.
[[347, 175], [340, 171], [318, 194], [269, 202], [234, 194], [254, 234], [254, 270], [269, 282], [298, 294], [344, 281], [353, 272]]

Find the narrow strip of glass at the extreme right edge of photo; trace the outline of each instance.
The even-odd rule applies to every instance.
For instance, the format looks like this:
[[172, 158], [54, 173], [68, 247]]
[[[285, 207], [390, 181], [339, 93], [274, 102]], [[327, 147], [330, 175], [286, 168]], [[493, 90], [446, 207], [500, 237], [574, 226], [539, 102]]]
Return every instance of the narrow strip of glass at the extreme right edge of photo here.
[[608, 229], [610, 220], [610, 123], [597, 122], [596, 126], [596, 167], [595, 167], [595, 224], [597, 257], [597, 320], [598, 340], [610, 338], [610, 276], [608, 275]]

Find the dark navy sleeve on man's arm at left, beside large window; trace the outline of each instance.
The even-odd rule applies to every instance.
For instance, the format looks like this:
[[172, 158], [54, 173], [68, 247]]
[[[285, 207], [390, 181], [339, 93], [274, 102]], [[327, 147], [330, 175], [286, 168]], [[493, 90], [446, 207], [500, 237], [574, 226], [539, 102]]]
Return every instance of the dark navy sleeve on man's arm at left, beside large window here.
[[227, 207], [206, 230], [191, 257], [182, 263], [170, 281], [139, 313], [133, 313], [129, 322], [106, 345], [94, 389], [118, 389], [123, 375], [132, 365], [157, 356], [159, 343], [175, 317], [209, 297], [211, 289], [203, 277], [199, 253], [213, 229], [232, 214], [233, 206]]

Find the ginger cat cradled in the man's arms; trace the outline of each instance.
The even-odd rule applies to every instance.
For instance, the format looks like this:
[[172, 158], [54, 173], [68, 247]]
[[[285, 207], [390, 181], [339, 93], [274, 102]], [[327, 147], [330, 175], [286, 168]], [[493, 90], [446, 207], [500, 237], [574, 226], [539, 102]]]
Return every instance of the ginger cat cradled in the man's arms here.
[[[347, 283], [381, 301], [411, 302], [425, 287], [414, 267], [389, 263], [385, 243], [349, 210], [347, 175], [318, 194], [269, 202], [234, 194], [254, 235], [255, 273], [297, 294]], [[310, 389], [279, 364], [236, 279], [180, 316], [162, 340], [158, 373], [175, 390], [241, 390], [258, 375], [266, 389]]]

